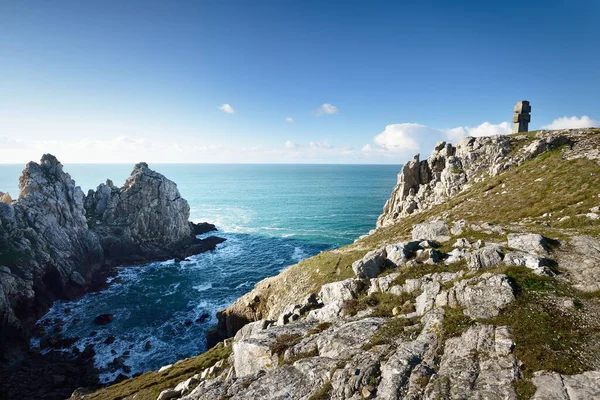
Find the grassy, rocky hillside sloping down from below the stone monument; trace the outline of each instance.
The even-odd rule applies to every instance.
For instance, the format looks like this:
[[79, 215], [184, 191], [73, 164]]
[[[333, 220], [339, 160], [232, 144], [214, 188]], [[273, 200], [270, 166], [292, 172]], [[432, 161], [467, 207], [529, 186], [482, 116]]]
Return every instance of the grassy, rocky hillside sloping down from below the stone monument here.
[[440, 143], [371, 234], [223, 310], [231, 338], [72, 398], [600, 398], [599, 236], [600, 129]]

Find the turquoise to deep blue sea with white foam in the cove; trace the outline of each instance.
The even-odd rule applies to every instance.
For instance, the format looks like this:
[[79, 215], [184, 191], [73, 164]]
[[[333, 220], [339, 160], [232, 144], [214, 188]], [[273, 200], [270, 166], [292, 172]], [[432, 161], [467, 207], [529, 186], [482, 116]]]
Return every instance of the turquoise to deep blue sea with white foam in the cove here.
[[[215, 224], [227, 240], [185, 261], [119, 267], [107, 289], [58, 301], [43, 316], [39, 323], [47, 325], [47, 335], [76, 339], [64, 351], [94, 345], [100, 383], [206, 351], [205, 332], [217, 322], [215, 313], [258, 281], [373, 229], [400, 171], [400, 165], [150, 167], [177, 183], [192, 221]], [[18, 197], [23, 168], [0, 165], [0, 191]], [[122, 185], [132, 168], [64, 166], [86, 193], [107, 178]], [[95, 325], [101, 314], [113, 314], [113, 322]], [[39, 343], [32, 340], [34, 347]], [[116, 367], [118, 357], [125, 369]]]

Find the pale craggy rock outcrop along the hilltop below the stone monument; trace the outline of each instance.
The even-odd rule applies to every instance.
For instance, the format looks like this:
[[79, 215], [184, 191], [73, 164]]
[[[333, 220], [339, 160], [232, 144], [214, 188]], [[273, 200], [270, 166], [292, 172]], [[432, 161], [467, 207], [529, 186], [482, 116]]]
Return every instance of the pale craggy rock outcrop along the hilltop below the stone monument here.
[[377, 226], [430, 209], [486, 177], [496, 176], [541, 153], [568, 144], [569, 157], [600, 159], [597, 138], [586, 129], [540, 131], [531, 136], [464, 137], [456, 146], [438, 143], [426, 160], [417, 154], [398, 174]]

